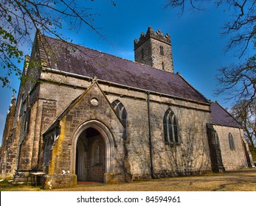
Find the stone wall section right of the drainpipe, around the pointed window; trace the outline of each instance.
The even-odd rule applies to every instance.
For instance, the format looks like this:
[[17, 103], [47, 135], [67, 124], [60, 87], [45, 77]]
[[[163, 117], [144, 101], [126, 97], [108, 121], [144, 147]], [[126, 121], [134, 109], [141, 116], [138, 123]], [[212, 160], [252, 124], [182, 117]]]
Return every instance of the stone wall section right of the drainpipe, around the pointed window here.
[[[207, 111], [176, 105], [151, 104], [154, 169], [158, 177], [201, 174], [210, 171], [206, 124]], [[164, 141], [163, 117], [170, 108], [178, 120], [179, 144]]]

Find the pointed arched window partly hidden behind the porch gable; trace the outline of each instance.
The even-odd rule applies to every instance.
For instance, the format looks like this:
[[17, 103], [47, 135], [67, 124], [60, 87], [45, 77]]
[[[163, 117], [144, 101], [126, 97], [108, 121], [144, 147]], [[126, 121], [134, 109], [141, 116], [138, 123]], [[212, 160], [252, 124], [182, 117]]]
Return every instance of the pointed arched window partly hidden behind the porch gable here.
[[127, 112], [125, 110], [125, 106], [119, 101], [115, 100], [111, 103], [111, 106], [114, 108], [115, 113], [122, 121], [122, 125], [124, 127], [124, 131], [122, 134], [122, 138], [124, 141], [128, 141], [128, 134], [127, 134]]

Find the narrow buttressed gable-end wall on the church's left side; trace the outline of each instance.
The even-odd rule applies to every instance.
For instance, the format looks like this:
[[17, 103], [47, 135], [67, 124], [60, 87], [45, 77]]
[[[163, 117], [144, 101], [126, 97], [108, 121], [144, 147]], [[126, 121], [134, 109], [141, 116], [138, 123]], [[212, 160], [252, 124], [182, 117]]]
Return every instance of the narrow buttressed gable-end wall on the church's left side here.
[[[38, 35], [35, 36], [35, 39]], [[38, 170], [38, 150], [41, 132], [41, 104], [38, 102], [40, 91], [41, 62], [38, 60], [37, 40], [32, 46], [31, 58], [26, 56], [23, 78], [18, 92], [14, 125], [18, 132], [14, 137], [18, 141], [18, 160], [15, 161], [15, 181], [19, 177], [29, 176], [30, 171]], [[22, 174], [24, 172], [24, 174]]]

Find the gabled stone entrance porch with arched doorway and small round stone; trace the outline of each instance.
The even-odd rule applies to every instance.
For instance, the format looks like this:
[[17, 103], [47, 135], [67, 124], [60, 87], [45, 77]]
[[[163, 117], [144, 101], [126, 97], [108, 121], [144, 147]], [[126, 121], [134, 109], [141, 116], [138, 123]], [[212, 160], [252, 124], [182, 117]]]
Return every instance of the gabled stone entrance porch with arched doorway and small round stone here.
[[[44, 170], [53, 181], [50, 187], [58, 185], [55, 181], [75, 185], [74, 175], [77, 181], [111, 181], [114, 160], [122, 163], [124, 158], [123, 132], [122, 121], [100, 85], [92, 83], [44, 133]], [[122, 164], [115, 167], [123, 173]], [[68, 173], [66, 179], [63, 171]]]

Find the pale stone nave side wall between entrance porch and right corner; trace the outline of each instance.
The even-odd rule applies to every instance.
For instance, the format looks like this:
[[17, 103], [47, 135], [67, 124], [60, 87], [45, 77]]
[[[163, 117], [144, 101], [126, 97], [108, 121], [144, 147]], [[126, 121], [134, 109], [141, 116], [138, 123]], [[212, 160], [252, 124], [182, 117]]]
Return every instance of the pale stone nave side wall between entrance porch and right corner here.
[[[103, 86], [104, 89], [107, 89]], [[108, 92], [112, 88], [108, 88]], [[134, 179], [151, 178], [151, 157], [148, 130], [148, 103], [146, 93], [116, 88], [117, 94], [108, 94], [110, 102], [118, 99], [128, 113], [128, 161]], [[210, 122], [209, 105], [200, 105], [150, 96], [153, 171], [156, 177], [204, 173], [211, 170], [206, 124]], [[179, 121], [176, 146], [164, 141], [163, 118], [170, 108]], [[191, 121], [193, 120], [193, 121]]]

